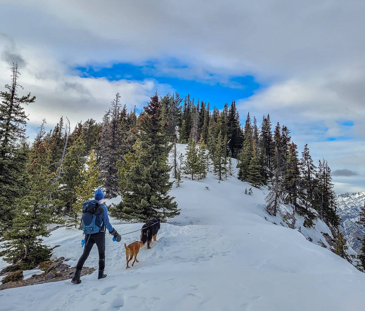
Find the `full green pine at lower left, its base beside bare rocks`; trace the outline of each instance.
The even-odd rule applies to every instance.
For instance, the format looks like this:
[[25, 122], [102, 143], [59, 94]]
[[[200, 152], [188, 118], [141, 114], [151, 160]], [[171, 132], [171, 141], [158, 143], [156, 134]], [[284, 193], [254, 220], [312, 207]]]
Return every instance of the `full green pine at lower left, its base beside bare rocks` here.
[[4, 234], [5, 250], [0, 256], [9, 263], [20, 261], [22, 268], [32, 268], [49, 259], [50, 249], [42, 244], [50, 234], [48, 223], [59, 223], [54, 217], [57, 202], [49, 199], [58, 184], [51, 182], [54, 173], [48, 169], [49, 146], [42, 141], [43, 127], [38, 133], [27, 164], [27, 194], [14, 202], [13, 224]]

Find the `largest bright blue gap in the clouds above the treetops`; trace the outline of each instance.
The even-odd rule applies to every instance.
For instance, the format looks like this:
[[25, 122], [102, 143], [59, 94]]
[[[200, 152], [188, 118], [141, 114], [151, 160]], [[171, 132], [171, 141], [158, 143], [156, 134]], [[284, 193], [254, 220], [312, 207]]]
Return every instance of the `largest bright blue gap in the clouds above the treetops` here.
[[[172, 64], [165, 68], [170, 70], [188, 69], [187, 65]], [[252, 75], [227, 76], [213, 73], [207, 73], [208, 78], [186, 79], [176, 77], [172, 74], [166, 74], [164, 70], [160, 71], [153, 61], [148, 61], [144, 65], [134, 65], [132, 63], [116, 63], [111, 66], [89, 65], [77, 66], [78, 75], [83, 78], [104, 77], [109, 81], [130, 80], [143, 81], [145, 79], [154, 79], [157, 84], [171, 86], [173, 90], [184, 97], [190, 93], [190, 98], [199, 97], [199, 101], [210, 102], [211, 108], [216, 106], [222, 109], [225, 102], [228, 104], [232, 100], [238, 100], [252, 96], [263, 86], [260, 86]], [[160, 94], [163, 96], [164, 94]]]

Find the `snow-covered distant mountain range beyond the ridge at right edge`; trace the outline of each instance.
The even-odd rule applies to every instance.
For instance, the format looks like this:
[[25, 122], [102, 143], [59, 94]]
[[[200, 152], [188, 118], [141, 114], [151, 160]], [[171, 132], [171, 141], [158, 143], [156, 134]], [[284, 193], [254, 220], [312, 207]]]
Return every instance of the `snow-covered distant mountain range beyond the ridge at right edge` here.
[[357, 237], [365, 234], [364, 227], [356, 223], [360, 209], [365, 203], [365, 191], [340, 193], [336, 194], [336, 198], [337, 212], [342, 219], [340, 230], [351, 247], [357, 251], [360, 248], [360, 241], [357, 240]]

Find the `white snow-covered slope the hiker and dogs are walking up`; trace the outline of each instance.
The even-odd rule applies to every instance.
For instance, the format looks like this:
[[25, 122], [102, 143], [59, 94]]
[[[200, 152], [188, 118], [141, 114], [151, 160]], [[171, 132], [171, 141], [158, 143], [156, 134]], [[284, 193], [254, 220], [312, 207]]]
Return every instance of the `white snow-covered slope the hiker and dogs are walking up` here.
[[[266, 221], [266, 190], [253, 188], [250, 196], [245, 187], [236, 178], [218, 183], [210, 173], [184, 179], [172, 190], [181, 215], [161, 224], [134, 267], [125, 268], [123, 242], [138, 240], [138, 232], [121, 243], [107, 236], [106, 279], [94, 272], [80, 285], [6, 289], [0, 310], [364, 310], [365, 274], [297, 230]], [[141, 228], [113, 224], [121, 234]], [[45, 242], [61, 245], [53, 256], [76, 265], [80, 240], [79, 231], [60, 228]], [[97, 267], [96, 247], [86, 265]]]

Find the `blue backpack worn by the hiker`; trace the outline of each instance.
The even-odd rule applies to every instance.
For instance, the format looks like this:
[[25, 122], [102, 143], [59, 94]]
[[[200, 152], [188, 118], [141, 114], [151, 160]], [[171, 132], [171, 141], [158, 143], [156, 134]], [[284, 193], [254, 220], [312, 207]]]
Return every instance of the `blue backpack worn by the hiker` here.
[[84, 234], [98, 233], [103, 224], [103, 208], [99, 201], [89, 200], [82, 204], [82, 231]]

